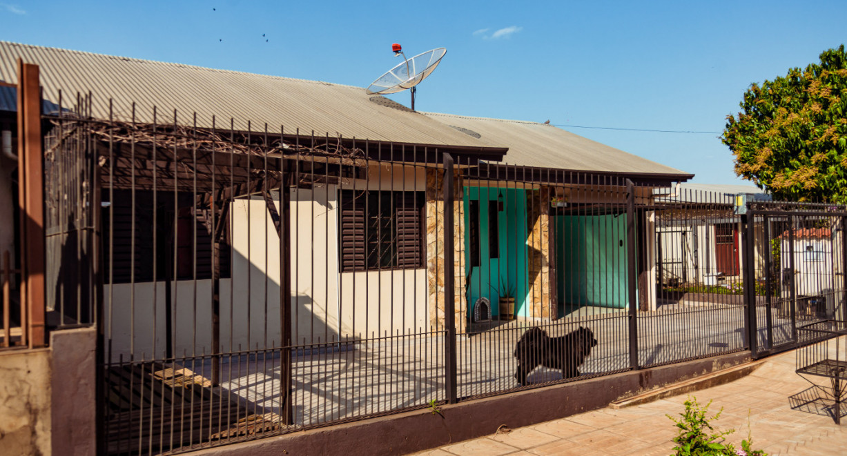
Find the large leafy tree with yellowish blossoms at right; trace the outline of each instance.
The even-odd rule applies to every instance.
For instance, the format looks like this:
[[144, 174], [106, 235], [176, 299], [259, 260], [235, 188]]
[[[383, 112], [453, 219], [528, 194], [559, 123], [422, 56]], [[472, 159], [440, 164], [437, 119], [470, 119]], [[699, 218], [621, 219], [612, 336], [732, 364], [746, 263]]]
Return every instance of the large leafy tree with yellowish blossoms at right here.
[[847, 52], [750, 85], [722, 141], [735, 173], [780, 200], [847, 204]]

